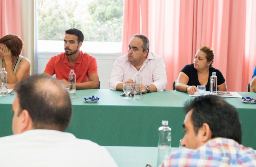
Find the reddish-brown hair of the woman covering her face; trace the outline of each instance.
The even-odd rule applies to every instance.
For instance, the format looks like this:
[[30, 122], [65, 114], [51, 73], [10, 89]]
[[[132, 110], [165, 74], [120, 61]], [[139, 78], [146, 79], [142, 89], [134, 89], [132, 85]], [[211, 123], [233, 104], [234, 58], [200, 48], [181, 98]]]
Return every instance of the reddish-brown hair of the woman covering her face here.
[[12, 56], [18, 57], [23, 48], [22, 39], [14, 34], [8, 34], [0, 38], [0, 43], [5, 44], [12, 52]]

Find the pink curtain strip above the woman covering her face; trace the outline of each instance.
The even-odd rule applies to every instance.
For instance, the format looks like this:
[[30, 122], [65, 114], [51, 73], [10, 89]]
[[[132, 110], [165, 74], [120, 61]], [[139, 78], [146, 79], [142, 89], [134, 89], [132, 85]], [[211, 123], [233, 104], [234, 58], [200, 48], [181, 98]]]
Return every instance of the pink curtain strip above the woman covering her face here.
[[0, 0], [0, 37], [7, 34], [21, 37], [20, 0]]

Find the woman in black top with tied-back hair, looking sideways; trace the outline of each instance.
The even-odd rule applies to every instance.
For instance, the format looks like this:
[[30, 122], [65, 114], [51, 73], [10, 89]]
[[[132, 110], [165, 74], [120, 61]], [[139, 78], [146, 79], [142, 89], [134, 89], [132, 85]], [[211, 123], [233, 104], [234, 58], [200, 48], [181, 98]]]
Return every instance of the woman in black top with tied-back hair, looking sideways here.
[[216, 72], [217, 90], [227, 91], [225, 78], [221, 72], [212, 67], [214, 53], [208, 46], [201, 47], [195, 55], [194, 64], [186, 65], [178, 76], [175, 89], [194, 94], [197, 85], [205, 85], [206, 91], [210, 90], [210, 77]]

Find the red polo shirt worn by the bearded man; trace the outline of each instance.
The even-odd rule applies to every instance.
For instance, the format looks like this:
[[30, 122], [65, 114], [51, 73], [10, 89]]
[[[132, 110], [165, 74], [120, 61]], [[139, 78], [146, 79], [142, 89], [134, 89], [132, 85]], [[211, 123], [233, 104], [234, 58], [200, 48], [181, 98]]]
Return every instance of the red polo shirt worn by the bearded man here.
[[80, 51], [79, 57], [73, 64], [73, 67], [68, 61], [65, 53], [61, 53], [57, 56], [50, 58], [46, 65], [44, 72], [50, 74], [51, 76], [56, 74], [56, 78], [59, 80], [67, 80], [70, 70], [73, 69], [76, 74], [76, 82], [87, 82], [89, 81], [89, 76], [94, 73], [98, 73], [98, 67], [96, 59]]

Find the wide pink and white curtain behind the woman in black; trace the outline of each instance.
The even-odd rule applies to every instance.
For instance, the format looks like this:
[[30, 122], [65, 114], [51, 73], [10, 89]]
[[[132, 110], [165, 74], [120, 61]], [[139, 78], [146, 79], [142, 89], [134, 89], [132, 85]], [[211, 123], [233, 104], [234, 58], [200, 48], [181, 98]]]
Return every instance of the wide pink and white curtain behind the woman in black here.
[[[125, 0], [125, 3], [128, 2], [130, 0]], [[147, 2], [148, 24], [142, 26], [145, 30], [148, 29], [150, 51], [161, 55], [165, 60], [167, 89], [172, 88], [172, 82], [178, 78], [180, 70], [193, 62], [198, 48], [206, 45], [214, 50], [214, 68], [219, 69], [226, 78], [228, 90], [246, 91], [246, 85], [256, 65], [254, 0]], [[124, 6], [124, 13], [130, 10], [133, 9]], [[145, 17], [140, 19], [144, 23]], [[130, 20], [130, 24], [131, 22]], [[124, 26], [127, 26], [126, 23], [124, 18]], [[138, 31], [133, 32], [132, 29], [123, 30], [123, 34], [130, 36], [137, 33]], [[124, 41], [123, 38], [122, 53], [126, 52], [129, 40], [128, 38]]]

